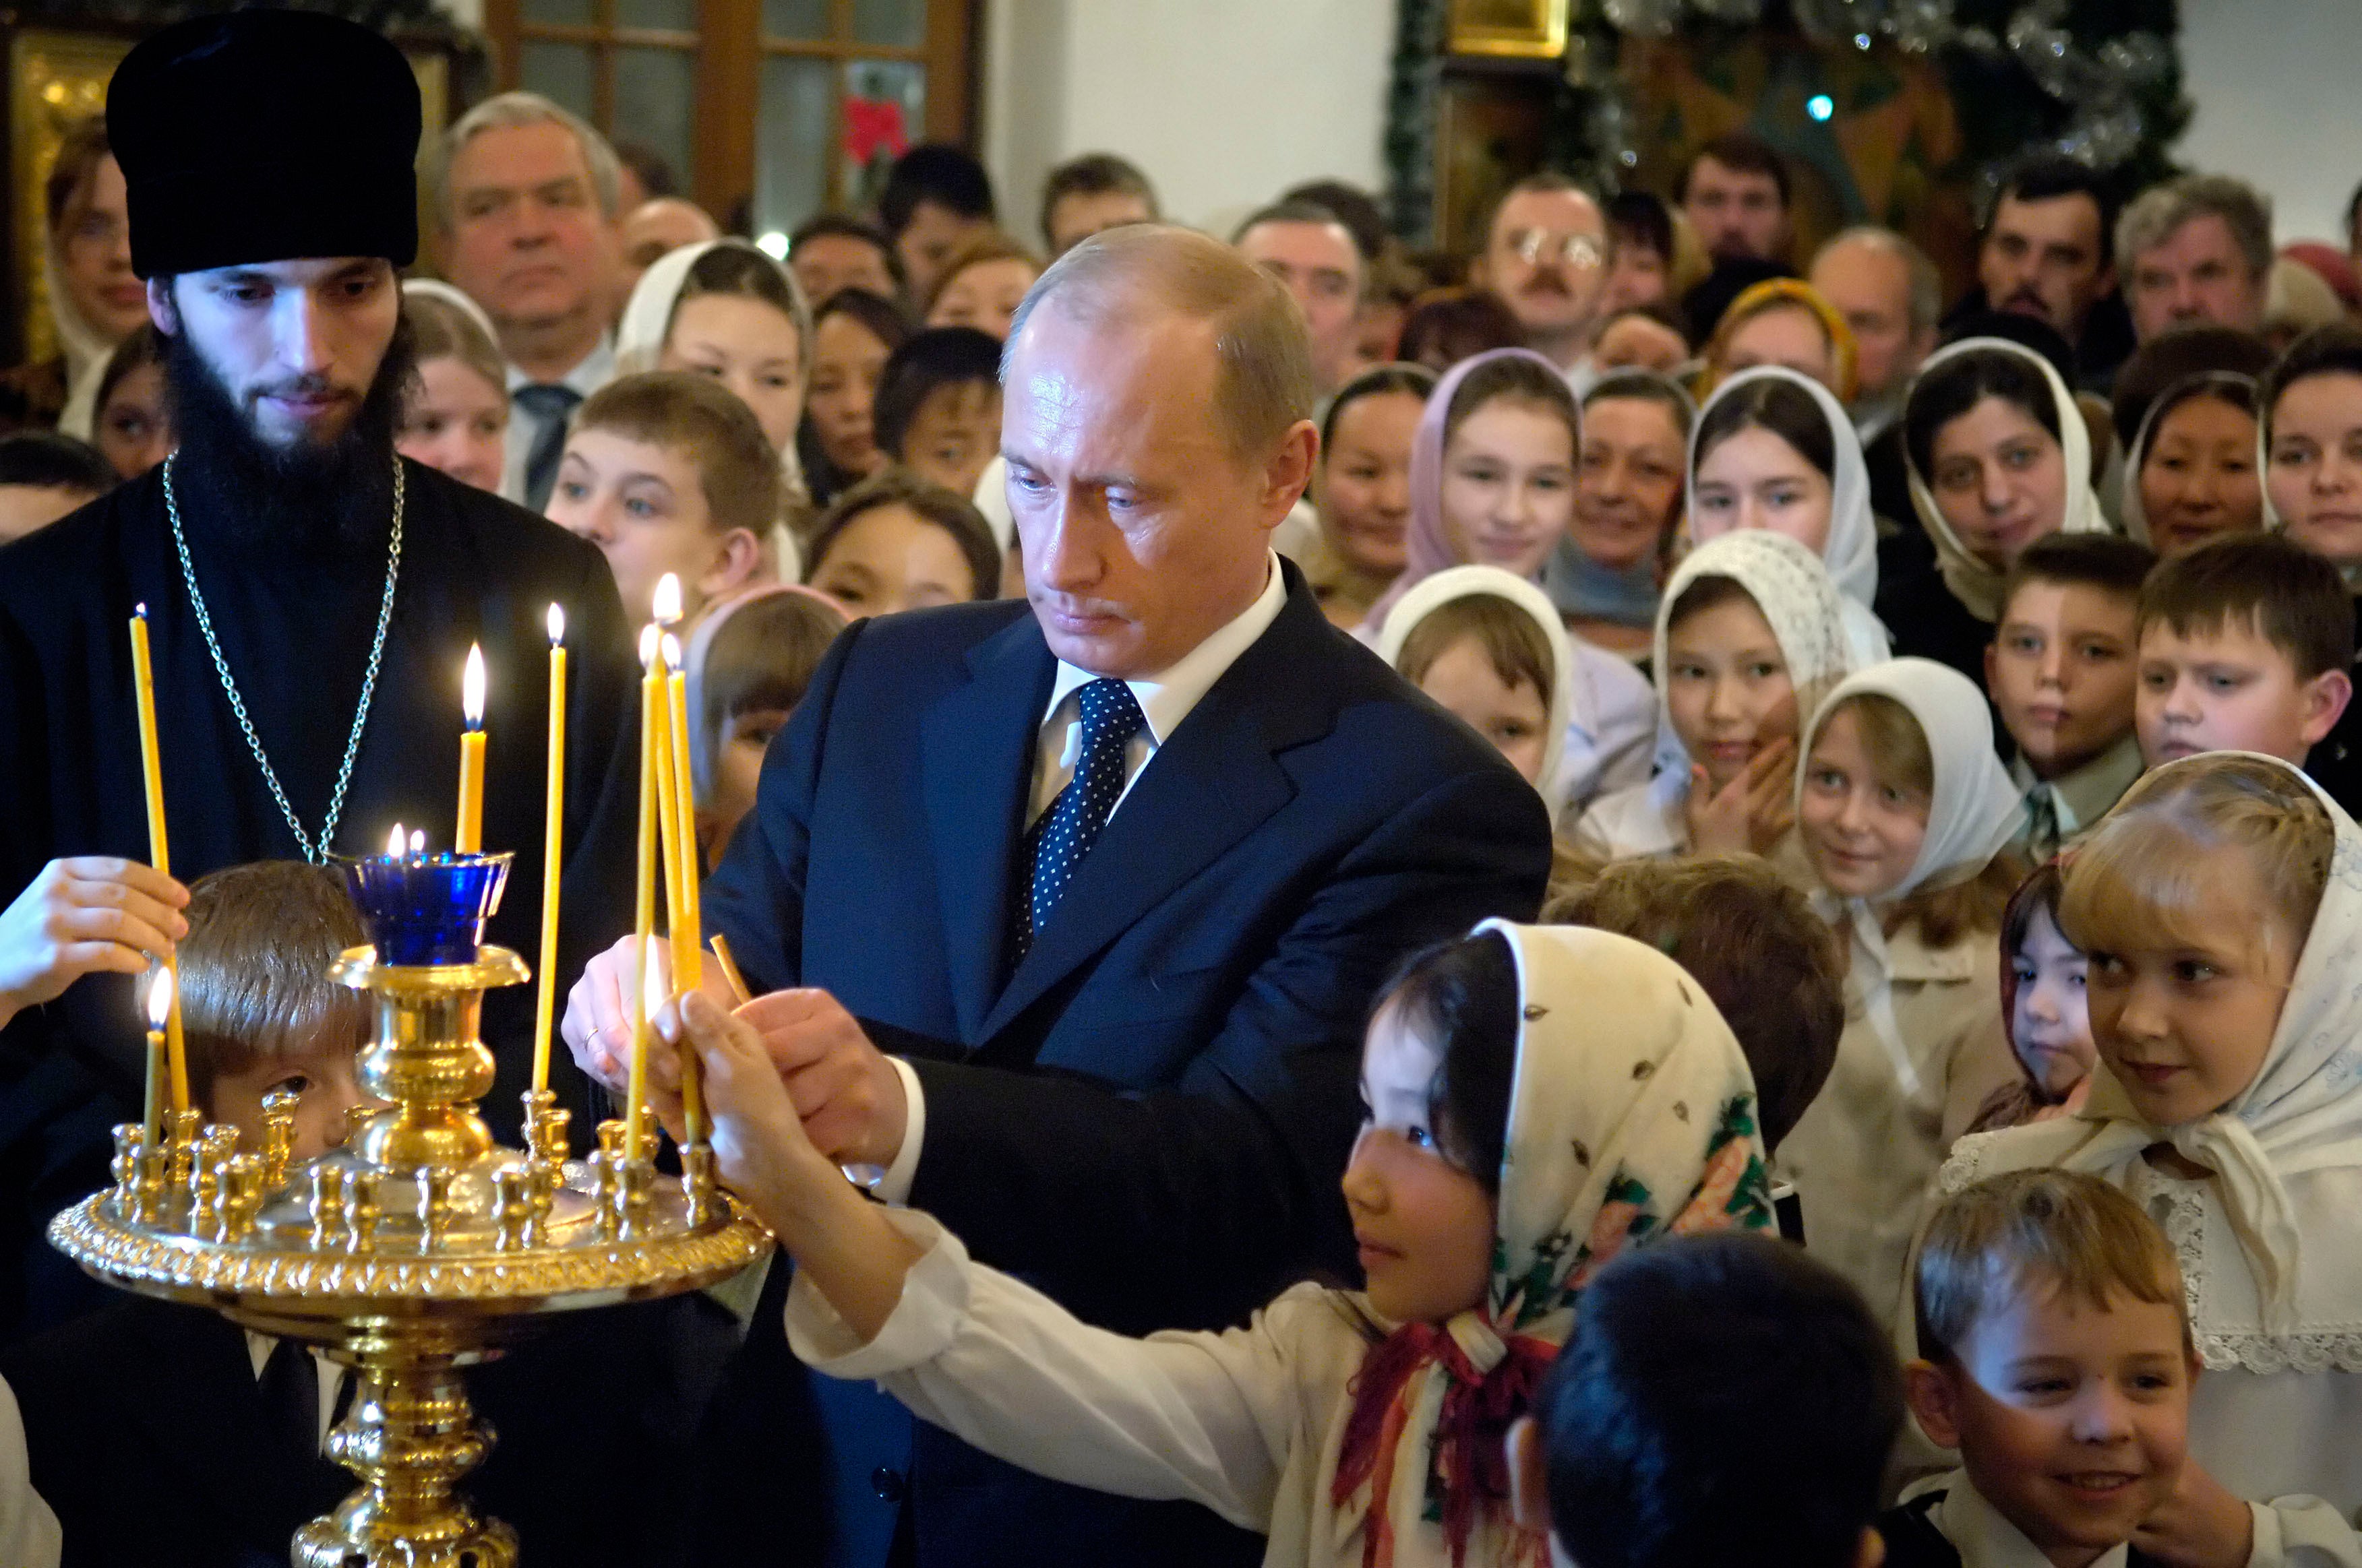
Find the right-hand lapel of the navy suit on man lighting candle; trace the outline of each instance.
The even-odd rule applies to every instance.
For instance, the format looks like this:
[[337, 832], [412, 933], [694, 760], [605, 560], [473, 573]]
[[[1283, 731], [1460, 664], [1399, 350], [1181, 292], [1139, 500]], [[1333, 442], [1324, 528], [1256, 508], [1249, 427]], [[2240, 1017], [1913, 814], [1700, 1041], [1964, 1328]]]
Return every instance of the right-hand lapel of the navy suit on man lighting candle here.
[[971, 1044], [983, 1046], [1006, 1030], [1051, 985], [1294, 798], [1278, 753], [1327, 734], [1335, 706], [1301, 680], [1306, 638], [1325, 635], [1327, 621], [1292, 569], [1290, 588], [1271, 628], [1141, 770], [992, 1004], [983, 1032], [968, 1034]]

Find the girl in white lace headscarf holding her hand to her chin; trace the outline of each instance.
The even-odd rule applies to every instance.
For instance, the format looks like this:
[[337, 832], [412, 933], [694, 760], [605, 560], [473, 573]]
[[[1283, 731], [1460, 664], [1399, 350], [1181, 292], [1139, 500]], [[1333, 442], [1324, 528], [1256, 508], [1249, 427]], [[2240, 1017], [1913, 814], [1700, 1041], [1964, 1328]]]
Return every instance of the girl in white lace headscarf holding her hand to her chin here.
[[1658, 775], [1592, 801], [1575, 848], [1604, 860], [1750, 850], [1807, 871], [1790, 793], [1802, 716], [1845, 678], [1845, 602], [1821, 557], [1746, 529], [1689, 553], [1656, 614]]

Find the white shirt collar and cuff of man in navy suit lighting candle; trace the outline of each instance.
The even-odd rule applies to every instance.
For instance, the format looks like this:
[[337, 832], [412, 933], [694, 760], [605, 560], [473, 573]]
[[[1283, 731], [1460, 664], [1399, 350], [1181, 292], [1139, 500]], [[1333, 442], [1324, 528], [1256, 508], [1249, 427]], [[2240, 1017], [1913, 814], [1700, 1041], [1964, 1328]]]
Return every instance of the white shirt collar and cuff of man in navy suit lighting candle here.
[[[1280, 576], [1280, 557], [1266, 550], [1264, 590], [1245, 612], [1181, 654], [1169, 668], [1124, 682], [1131, 687], [1131, 697], [1141, 704], [1148, 723], [1124, 746], [1124, 793], [1108, 810], [1110, 819], [1124, 808], [1131, 786], [1138, 784], [1141, 770], [1155, 758], [1157, 746], [1172, 739], [1181, 720], [1190, 716], [1190, 708], [1238, 664], [1238, 656], [1271, 631], [1285, 602], [1287, 583]], [[1098, 680], [1098, 675], [1065, 659], [1058, 661], [1058, 678], [1049, 687], [1049, 706], [1042, 711], [1042, 737], [1035, 749], [1035, 789], [1032, 808], [1025, 812], [1027, 827], [1049, 810], [1058, 791], [1075, 777], [1075, 756], [1082, 751], [1082, 699], [1075, 692], [1091, 680]], [[893, 1157], [893, 1164], [886, 1167], [886, 1178], [876, 1183], [874, 1193], [883, 1202], [898, 1204], [909, 1197], [909, 1183], [919, 1174], [919, 1145], [926, 1141], [926, 1096], [909, 1063], [898, 1056], [886, 1060], [902, 1074], [902, 1100], [909, 1105], [909, 1119], [902, 1126], [902, 1148]]]

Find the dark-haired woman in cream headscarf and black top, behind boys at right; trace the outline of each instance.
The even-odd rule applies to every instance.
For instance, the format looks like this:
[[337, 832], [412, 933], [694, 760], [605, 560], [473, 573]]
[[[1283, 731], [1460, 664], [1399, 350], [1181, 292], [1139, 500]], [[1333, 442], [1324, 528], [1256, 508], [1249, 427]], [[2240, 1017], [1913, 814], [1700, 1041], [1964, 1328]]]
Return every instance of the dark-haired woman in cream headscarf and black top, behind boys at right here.
[[1911, 383], [1904, 463], [1939, 576], [1908, 583], [1880, 614], [1894, 652], [1982, 680], [2017, 553], [2048, 534], [2109, 531], [2090, 489], [2090, 425], [2048, 359], [1963, 338]]

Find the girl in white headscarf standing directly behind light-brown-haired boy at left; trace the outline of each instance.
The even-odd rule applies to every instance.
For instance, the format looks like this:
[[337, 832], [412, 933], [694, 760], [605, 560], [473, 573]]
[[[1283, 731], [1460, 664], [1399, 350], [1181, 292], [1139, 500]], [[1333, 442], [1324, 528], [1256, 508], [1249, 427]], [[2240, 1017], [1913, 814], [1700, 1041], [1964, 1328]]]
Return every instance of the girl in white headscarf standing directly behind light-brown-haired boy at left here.
[[[666, 250], [640, 274], [614, 335], [614, 373], [638, 371], [694, 371], [730, 387], [779, 451], [787, 515], [808, 508], [796, 425], [813, 373], [813, 307], [794, 272], [742, 239]], [[787, 517], [768, 543], [782, 581], [803, 576]]]

